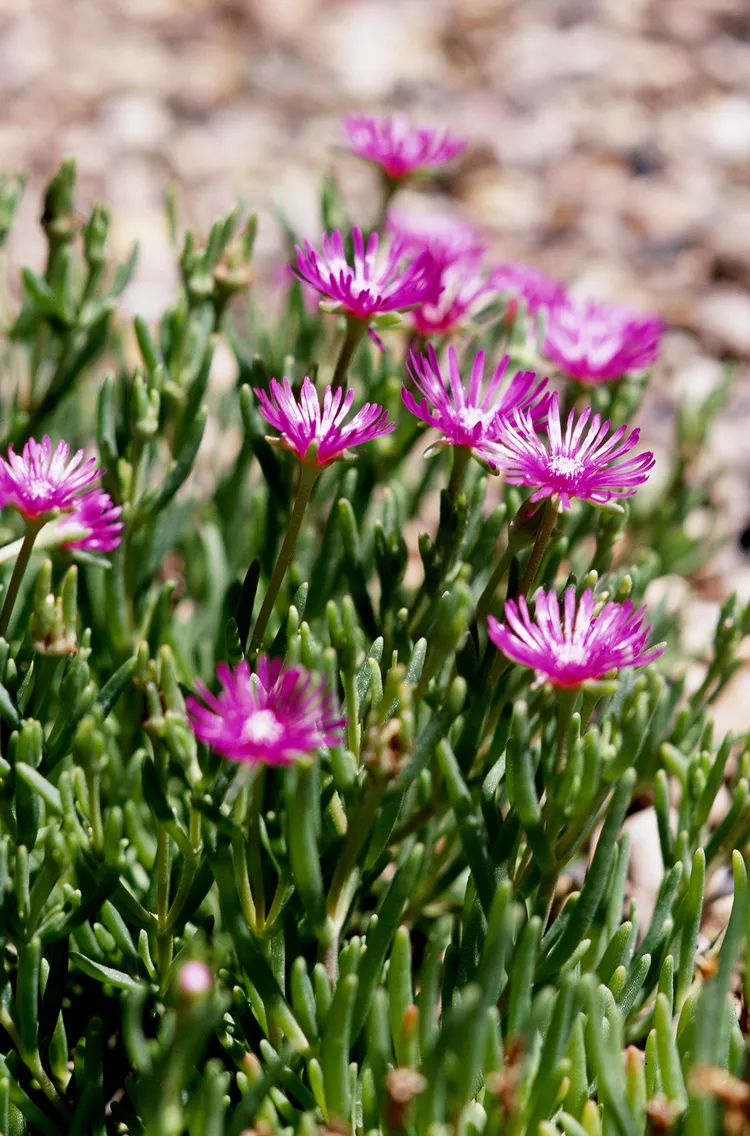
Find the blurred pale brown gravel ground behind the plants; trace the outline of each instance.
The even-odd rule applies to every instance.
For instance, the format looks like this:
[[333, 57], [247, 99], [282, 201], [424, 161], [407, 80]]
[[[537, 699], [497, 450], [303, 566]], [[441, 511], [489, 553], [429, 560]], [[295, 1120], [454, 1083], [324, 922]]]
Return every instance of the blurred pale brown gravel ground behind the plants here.
[[[168, 185], [199, 231], [238, 199], [257, 208], [260, 272], [278, 281], [277, 211], [316, 240], [323, 173], [373, 219], [373, 172], [336, 150], [342, 112], [401, 109], [467, 136], [430, 192], [498, 257], [666, 318], [643, 423], [657, 450], [677, 404], [739, 360], [705, 470], [728, 541], [669, 601], [690, 604], [700, 651], [720, 598], [750, 598], [748, 0], [0, 0], [0, 169], [28, 177], [11, 286], [42, 260], [42, 186], [74, 156], [116, 250], [140, 242], [125, 315], [150, 320], [176, 281]], [[745, 673], [720, 725], [745, 728], [748, 700]]]

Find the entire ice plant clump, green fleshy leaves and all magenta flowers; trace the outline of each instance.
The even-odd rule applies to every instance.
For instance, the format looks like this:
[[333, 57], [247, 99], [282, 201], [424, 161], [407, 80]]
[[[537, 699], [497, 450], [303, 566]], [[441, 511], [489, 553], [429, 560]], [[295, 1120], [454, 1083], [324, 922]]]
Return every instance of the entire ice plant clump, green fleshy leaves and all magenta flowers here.
[[726, 384], [649, 496], [658, 317], [406, 212], [459, 140], [345, 137], [382, 214], [327, 181], [273, 316], [255, 218], [201, 240], [173, 209], [180, 295], [128, 368], [134, 258], [72, 164], [8, 301], [0, 1131], [748, 1131], [750, 753], [710, 712], [750, 609], [689, 690], [643, 602], [709, 552]]

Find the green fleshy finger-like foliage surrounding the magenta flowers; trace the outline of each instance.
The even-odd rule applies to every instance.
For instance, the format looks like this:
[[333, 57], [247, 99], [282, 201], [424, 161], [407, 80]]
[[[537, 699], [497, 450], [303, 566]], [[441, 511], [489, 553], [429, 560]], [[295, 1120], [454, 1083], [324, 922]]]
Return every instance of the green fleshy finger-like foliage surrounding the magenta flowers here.
[[[256, 223], [232, 214], [205, 243], [184, 235], [177, 303], [158, 328], [135, 320], [127, 367], [116, 298], [134, 254], [110, 264], [106, 212], [81, 223], [74, 182], [66, 164], [50, 183], [47, 265], [24, 270], [5, 328], [24, 377], [3, 387], [3, 438], [95, 435], [124, 533], [109, 558], [41, 541], [0, 641], [0, 1133], [744, 1130], [750, 746], [715, 738], [709, 710], [750, 607], [724, 604], [690, 698], [666, 624], [664, 667], [559, 705], [498, 667], [478, 615], [517, 591], [534, 521], [516, 490], [490, 502], [474, 465], [435, 506], [448, 463], [423, 467], [399, 412], [402, 343], [364, 342], [353, 381], [398, 431], [319, 475], [265, 636], [328, 678], [345, 742], [255, 776], [223, 761], [185, 695], [250, 657], [297, 476], [251, 387], [332, 368], [331, 325], [297, 283], [262, 320]], [[2, 237], [20, 190], [0, 184]], [[341, 215], [333, 183], [323, 208]], [[223, 400], [222, 334], [239, 366]], [[723, 393], [681, 418], [655, 515], [578, 504], [539, 579], [640, 601], [698, 565], [685, 521], [710, 508], [694, 462]], [[622, 421], [641, 395], [624, 379], [595, 398]], [[242, 429], [220, 474], [207, 401]], [[0, 554], [6, 586], [17, 554]], [[664, 860], [648, 926], [626, 897], [635, 800]], [[732, 916], [705, 942], [727, 862]]]

